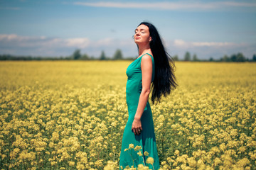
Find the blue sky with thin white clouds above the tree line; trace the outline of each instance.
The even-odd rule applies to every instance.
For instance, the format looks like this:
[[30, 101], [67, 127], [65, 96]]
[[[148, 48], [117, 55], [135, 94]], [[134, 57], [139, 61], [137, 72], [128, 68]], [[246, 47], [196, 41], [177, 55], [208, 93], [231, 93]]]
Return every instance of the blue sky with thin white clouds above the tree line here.
[[256, 54], [256, 1], [0, 0], [0, 54], [68, 56], [75, 49], [136, 57], [134, 29], [149, 21], [180, 59]]

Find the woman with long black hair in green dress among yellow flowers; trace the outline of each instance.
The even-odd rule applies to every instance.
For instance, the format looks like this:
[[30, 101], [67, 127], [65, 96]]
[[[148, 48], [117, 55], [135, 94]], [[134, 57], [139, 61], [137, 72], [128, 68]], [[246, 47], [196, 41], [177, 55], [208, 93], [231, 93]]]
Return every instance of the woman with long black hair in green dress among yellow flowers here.
[[172, 62], [164, 50], [159, 33], [151, 23], [139, 24], [135, 30], [134, 42], [137, 44], [139, 57], [129, 64], [126, 72], [129, 118], [122, 138], [119, 169], [142, 165], [149, 166], [149, 169], [159, 169], [154, 123], [148, 99], [151, 83], [153, 104], [160, 102], [162, 95], [166, 96], [176, 88], [174, 65], [170, 65]]

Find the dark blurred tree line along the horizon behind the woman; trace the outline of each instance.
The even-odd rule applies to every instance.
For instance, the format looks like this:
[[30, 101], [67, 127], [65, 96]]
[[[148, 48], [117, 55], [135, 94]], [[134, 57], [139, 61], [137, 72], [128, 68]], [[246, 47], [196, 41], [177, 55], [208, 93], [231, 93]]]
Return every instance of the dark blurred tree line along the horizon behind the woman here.
[[[123, 57], [122, 50], [117, 49], [112, 57], [107, 57], [102, 50], [99, 57], [89, 56], [82, 54], [81, 50], [77, 49], [73, 52], [73, 55], [67, 57], [31, 57], [31, 56], [14, 56], [14, 55], [0, 55], [0, 60], [134, 60], [136, 57]], [[174, 61], [186, 61], [186, 62], [256, 62], [256, 54], [251, 59], [245, 57], [242, 52], [233, 55], [224, 55], [220, 59], [213, 59], [210, 57], [208, 60], [198, 59], [196, 53], [191, 55], [190, 52], [186, 52], [182, 59], [178, 55], [172, 56]]]

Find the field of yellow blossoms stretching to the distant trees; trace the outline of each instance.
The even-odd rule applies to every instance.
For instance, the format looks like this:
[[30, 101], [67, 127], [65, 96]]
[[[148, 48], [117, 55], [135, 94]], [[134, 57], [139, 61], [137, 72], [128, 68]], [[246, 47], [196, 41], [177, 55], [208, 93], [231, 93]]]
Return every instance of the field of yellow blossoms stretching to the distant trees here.
[[[131, 62], [0, 62], [0, 169], [118, 169]], [[161, 169], [256, 169], [256, 63], [176, 77], [151, 105]]]

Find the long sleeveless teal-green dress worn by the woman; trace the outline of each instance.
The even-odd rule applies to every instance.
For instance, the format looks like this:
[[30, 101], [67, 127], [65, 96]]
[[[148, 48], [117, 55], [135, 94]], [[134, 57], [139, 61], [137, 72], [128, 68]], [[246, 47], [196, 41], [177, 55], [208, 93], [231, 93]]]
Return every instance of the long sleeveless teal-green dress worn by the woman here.
[[[148, 53], [146, 53], [149, 55]], [[144, 54], [144, 55], [146, 55]], [[144, 56], [142, 55], [142, 57]], [[150, 55], [151, 56], [151, 55]], [[149, 166], [149, 169], [153, 169], [152, 164], [147, 164], [146, 159], [148, 157], [154, 158], [154, 169], [159, 169], [159, 157], [156, 148], [156, 137], [154, 133], [154, 123], [152, 118], [152, 112], [149, 105], [149, 101], [146, 103], [144, 112], [142, 114], [142, 131], [139, 135], [134, 135], [132, 132], [132, 123], [134, 120], [134, 115], [137, 111], [137, 106], [139, 103], [139, 96], [142, 92], [142, 69], [141, 61], [142, 57], [137, 58], [129, 67], [127, 67], [127, 86], [126, 86], [126, 98], [129, 118], [127, 125], [124, 128], [124, 134], [122, 137], [122, 149], [120, 154], [119, 169], [124, 169], [125, 167], [134, 166], [137, 167], [139, 164], [145, 164]], [[154, 80], [154, 58], [152, 59], [152, 79]], [[134, 148], [132, 148], [132, 144]], [[135, 148], [136, 146], [139, 146]], [[138, 153], [142, 154], [138, 154]], [[145, 156], [144, 152], [148, 152], [149, 155]]]

